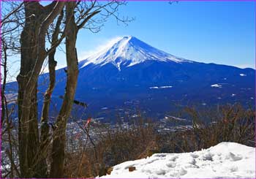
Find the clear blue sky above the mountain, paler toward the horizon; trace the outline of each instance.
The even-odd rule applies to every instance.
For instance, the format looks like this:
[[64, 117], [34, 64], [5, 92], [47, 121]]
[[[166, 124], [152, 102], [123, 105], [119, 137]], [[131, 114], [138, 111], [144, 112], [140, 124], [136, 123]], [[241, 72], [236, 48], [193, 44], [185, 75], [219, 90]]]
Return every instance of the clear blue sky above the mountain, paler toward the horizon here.
[[[125, 26], [110, 18], [97, 34], [80, 31], [79, 60], [111, 39], [132, 35], [189, 60], [255, 68], [254, 1], [128, 1], [119, 14], [135, 20]], [[64, 53], [57, 59], [65, 66]]]

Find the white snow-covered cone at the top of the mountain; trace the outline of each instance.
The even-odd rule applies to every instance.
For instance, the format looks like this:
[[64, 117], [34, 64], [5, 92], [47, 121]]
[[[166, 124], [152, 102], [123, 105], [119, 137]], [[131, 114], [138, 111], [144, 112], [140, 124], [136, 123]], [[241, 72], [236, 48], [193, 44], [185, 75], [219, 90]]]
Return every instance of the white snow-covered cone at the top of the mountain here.
[[83, 63], [81, 68], [89, 64], [99, 64], [103, 66], [111, 63], [120, 71], [121, 66], [133, 66], [146, 60], [174, 61], [176, 63], [184, 61], [192, 62], [158, 50], [140, 41], [140, 39], [136, 37], [128, 36], [118, 39], [112, 46], [106, 47], [104, 50], [86, 58], [86, 60], [80, 63]]

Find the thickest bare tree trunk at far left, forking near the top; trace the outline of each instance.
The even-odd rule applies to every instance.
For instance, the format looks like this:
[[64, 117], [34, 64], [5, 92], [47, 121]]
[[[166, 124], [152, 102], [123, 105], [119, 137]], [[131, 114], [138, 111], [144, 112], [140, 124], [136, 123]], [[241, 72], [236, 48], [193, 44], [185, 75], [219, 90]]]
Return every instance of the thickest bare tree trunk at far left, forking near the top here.
[[45, 34], [64, 7], [53, 1], [42, 7], [38, 1], [25, 1], [26, 23], [20, 35], [21, 60], [18, 80], [18, 142], [20, 174], [23, 178], [45, 177], [39, 162], [37, 123], [37, 79], [46, 57]]

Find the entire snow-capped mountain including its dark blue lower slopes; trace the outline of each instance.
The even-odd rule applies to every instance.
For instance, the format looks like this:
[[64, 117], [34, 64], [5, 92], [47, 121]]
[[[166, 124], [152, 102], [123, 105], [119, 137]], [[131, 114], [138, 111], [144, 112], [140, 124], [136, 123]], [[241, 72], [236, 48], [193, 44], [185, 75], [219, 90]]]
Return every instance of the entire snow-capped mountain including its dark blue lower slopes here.
[[[80, 61], [78, 67], [75, 98], [89, 104], [86, 113], [94, 117], [110, 118], [140, 110], [152, 118], [162, 118], [177, 104], [209, 107], [255, 102], [255, 69], [190, 61], [131, 36]], [[64, 94], [64, 69], [56, 71], [53, 96]], [[40, 79], [47, 77], [45, 74]], [[46, 88], [39, 85], [42, 91]], [[61, 99], [53, 97], [52, 103], [58, 107]]]

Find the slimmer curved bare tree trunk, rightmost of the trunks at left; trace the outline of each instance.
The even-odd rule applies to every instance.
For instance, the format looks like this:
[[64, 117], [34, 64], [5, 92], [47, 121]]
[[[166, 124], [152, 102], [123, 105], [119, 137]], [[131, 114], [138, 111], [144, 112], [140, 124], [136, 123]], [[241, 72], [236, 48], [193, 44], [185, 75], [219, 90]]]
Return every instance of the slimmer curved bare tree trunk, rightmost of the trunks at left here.
[[67, 119], [72, 109], [78, 81], [78, 57], [75, 48], [78, 28], [75, 24], [74, 9], [75, 1], [67, 3], [66, 17], [67, 20], [69, 20], [66, 24], [67, 85], [64, 94], [64, 102], [62, 103], [61, 110], [57, 117], [56, 129], [53, 132], [53, 161], [50, 168], [50, 178], [64, 177]]

